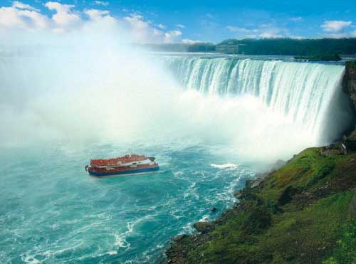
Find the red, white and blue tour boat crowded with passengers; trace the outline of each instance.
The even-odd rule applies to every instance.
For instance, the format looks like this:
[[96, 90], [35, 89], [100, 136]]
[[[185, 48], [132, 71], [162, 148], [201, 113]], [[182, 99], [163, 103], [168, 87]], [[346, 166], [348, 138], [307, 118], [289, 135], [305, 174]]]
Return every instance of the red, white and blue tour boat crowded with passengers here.
[[155, 159], [137, 154], [112, 159], [91, 159], [90, 165], [85, 166], [85, 171], [93, 176], [144, 174], [159, 170]]

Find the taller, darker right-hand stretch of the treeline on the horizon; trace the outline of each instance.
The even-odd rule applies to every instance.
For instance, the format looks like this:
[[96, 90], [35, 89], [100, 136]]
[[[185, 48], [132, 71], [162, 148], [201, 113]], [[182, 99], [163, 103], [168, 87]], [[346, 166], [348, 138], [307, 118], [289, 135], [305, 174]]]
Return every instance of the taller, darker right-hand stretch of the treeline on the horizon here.
[[356, 38], [263, 38], [263, 39], [228, 39], [218, 45], [241, 45], [239, 53], [248, 55], [298, 55], [310, 56], [317, 54], [356, 53]]

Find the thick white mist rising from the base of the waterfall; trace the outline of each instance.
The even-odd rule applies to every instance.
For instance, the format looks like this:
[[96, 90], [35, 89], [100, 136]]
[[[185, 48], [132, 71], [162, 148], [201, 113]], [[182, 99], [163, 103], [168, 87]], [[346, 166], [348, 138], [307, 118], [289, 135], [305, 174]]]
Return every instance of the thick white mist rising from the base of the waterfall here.
[[[100, 28], [100, 31], [98, 31]], [[93, 142], [221, 146], [272, 162], [313, 145], [303, 125], [252, 96], [185, 90], [125, 28], [17, 32], [0, 62], [0, 147]]]

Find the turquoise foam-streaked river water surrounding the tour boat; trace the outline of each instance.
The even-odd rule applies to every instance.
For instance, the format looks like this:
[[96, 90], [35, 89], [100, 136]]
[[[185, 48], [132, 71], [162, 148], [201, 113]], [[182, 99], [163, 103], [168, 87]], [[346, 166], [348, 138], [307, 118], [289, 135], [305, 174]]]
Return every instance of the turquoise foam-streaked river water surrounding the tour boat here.
[[0, 263], [164, 261], [172, 237], [216, 218], [254, 174], [219, 146], [199, 144], [135, 146], [132, 151], [155, 154], [161, 170], [154, 174], [97, 179], [85, 173], [90, 157], [122, 154], [118, 149], [2, 150]]

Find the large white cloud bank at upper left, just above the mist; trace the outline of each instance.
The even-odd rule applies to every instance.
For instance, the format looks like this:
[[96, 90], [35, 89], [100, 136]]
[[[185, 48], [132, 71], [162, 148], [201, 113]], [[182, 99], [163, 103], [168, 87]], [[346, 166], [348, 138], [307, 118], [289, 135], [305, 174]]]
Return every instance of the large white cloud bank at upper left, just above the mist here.
[[[61, 4], [48, 1], [44, 6], [54, 14], [47, 16], [33, 6], [14, 1], [12, 6], [0, 6], [0, 30], [11, 31], [14, 28], [36, 31], [48, 29], [55, 33], [63, 33], [80, 28], [85, 28], [92, 21], [116, 21], [124, 26], [131, 41], [139, 43], [172, 43], [180, 42], [182, 31], [175, 29], [164, 31], [166, 26], [155, 24], [145, 19], [142, 15], [132, 13], [123, 18], [110, 16], [109, 11], [98, 9], [75, 10], [74, 5]], [[88, 19], [85, 18], [88, 16]], [[182, 25], [183, 26], [183, 25]], [[182, 28], [182, 27], [180, 27]]]

